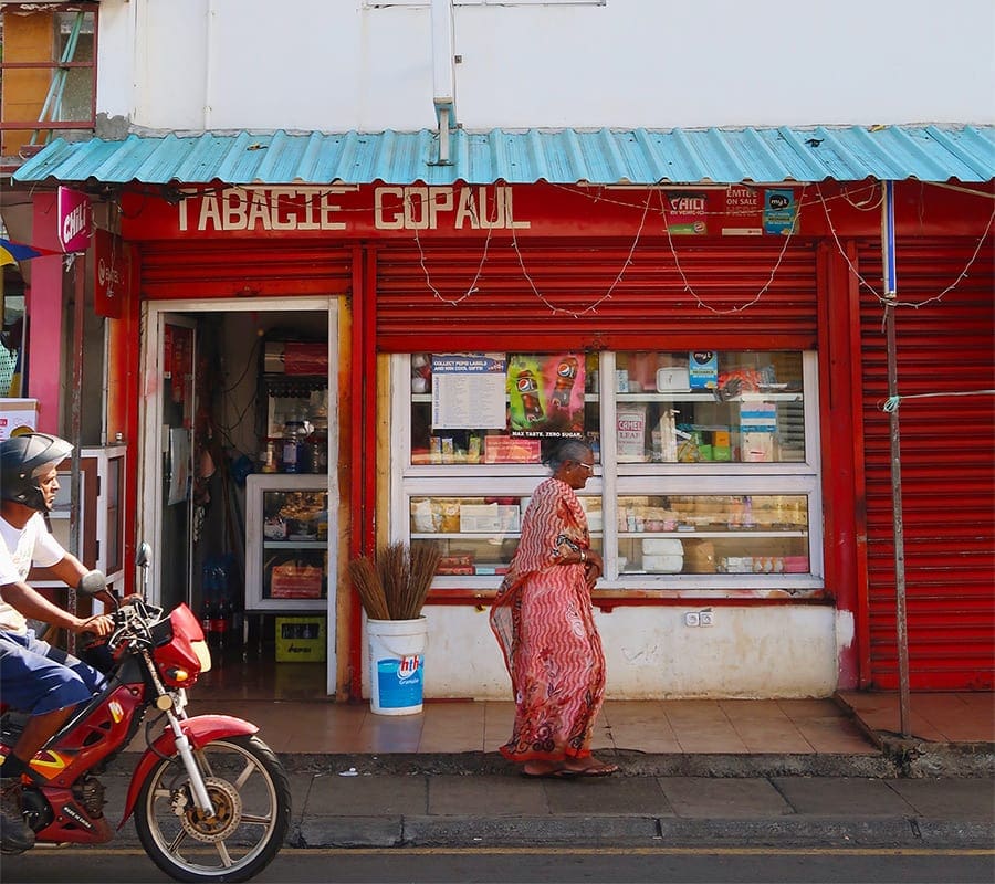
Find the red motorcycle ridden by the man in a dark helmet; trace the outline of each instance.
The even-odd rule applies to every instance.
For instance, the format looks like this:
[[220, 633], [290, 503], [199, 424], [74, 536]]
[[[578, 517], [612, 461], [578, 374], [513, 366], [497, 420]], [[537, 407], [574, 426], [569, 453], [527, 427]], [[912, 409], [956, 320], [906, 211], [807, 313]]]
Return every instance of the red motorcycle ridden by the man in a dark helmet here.
[[[148, 567], [145, 544], [137, 564]], [[86, 575], [80, 589], [113, 598], [100, 571]], [[177, 881], [248, 881], [286, 838], [286, 771], [255, 736], [255, 725], [228, 715], [187, 717], [187, 688], [210, 670], [211, 659], [186, 604], [169, 614], [138, 596], [113, 604], [106, 685], [34, 756], [35, 781], [24, 780], [23, 812], [35, 843], [103, 844], [114, 838], [96, 775], [128, 746], [149, 712], [148, 748], [135, 766], [117, 828], [134, 811], [146, 853]], [[17, 714], [6, 714], [0, 751], [7, 755], [19, 735]]]

